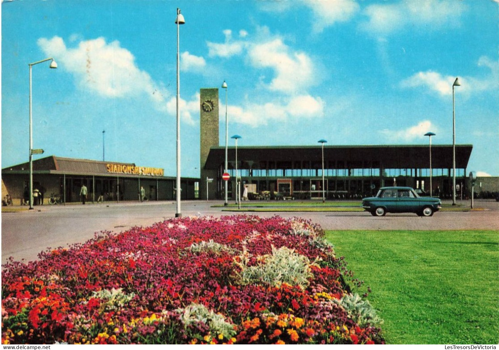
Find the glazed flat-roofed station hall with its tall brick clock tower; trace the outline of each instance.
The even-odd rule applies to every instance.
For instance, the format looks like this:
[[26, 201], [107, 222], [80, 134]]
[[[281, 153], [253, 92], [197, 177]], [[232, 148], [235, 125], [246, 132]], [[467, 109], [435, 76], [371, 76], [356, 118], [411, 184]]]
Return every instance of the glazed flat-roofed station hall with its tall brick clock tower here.
[[[219, 90], [200, 91], [200, 197], [225, 198], [225, 145], [219, 143]], [[234, 131], [232, 131], [234, 132]], [[229, 135], [230, 137], [231, 135]], [[241, 141], [244, 141], [244, 135]], [[224, 140], [225, 141], [225, 140]], [[257, 198], [277, 194], [291, 198], [360, 198], [382, 186], [430, 190], [430, 149], [427, 145], [242, 146], [229, 139], [229, 197], [236, 198], [236, 168], [240, 190], [248, 185]], [[224, 142], [225, 143], [225, 142]], [[456, 184], [466, 193], [471, 144], [456, 145]], [[452, 196], [453, 147], [432, 145], [433, 193]], [[324, 171], [322, 170], [324, 168]], [[324, 187], [323, 187], [324, 175]], [[206, 179], [206, 181], [205, 181]], [[209, 183], [209, 179], [213, 179]], [[208, 186], [208, 188], [206, 188]], [[265, 195], [262, 197], [262, 193]], [[269, 192], [269, 193], [266, 193]], [[251, 196], [251, 195], [250, 195]]]

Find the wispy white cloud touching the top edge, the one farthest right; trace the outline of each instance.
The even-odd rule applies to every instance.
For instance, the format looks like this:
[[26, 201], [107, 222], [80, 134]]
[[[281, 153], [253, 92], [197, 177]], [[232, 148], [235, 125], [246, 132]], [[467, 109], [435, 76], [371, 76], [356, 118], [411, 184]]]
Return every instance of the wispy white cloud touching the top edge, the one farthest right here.
[[431, 29], [459, 24], [466, 5], [463, 1], [418, 0], [387, 2], [366, 7], [369, 17], [361, 25], [366, 31], [389, 34], [404, 26], [428, 27]]

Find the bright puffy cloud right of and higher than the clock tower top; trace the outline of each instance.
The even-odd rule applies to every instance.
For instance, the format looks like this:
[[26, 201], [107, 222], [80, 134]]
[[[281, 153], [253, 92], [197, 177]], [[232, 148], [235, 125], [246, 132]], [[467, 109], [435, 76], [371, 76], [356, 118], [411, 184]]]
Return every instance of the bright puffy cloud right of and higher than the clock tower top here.
[[303, 52], [292, 51], [280, 38], [251, 45], [249, 57], [257, 68], [272, 68], [275, 77], [268, 88], [293, 93], [314, 83], [312, 60]]

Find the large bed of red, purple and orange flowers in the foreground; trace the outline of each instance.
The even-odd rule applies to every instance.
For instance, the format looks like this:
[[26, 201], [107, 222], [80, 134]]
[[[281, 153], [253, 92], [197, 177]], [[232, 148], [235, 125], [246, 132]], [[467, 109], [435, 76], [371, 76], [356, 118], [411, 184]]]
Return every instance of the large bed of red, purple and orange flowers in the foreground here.
[[2, 272], [2, 343], [383, 343], [320, 227], [185, 217]]

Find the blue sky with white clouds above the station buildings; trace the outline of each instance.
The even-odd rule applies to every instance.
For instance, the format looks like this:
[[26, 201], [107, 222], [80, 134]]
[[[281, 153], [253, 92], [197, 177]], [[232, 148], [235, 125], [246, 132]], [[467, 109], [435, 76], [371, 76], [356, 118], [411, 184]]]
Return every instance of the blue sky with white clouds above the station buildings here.
[[[176, 174], [180, 7], [182, 176], [199, 176], [199, 90], [228, 83], [245, 145], [473, 144], [499, 176], [495, 0], [12, 0], [1, 3], [2, 167], [33, 148]], [[220, 88], [225, 145], [225, 90]], [[233, 145], [230, 139], [229, 144]], [[41, 156], [35, 156], [36, 158]]]

